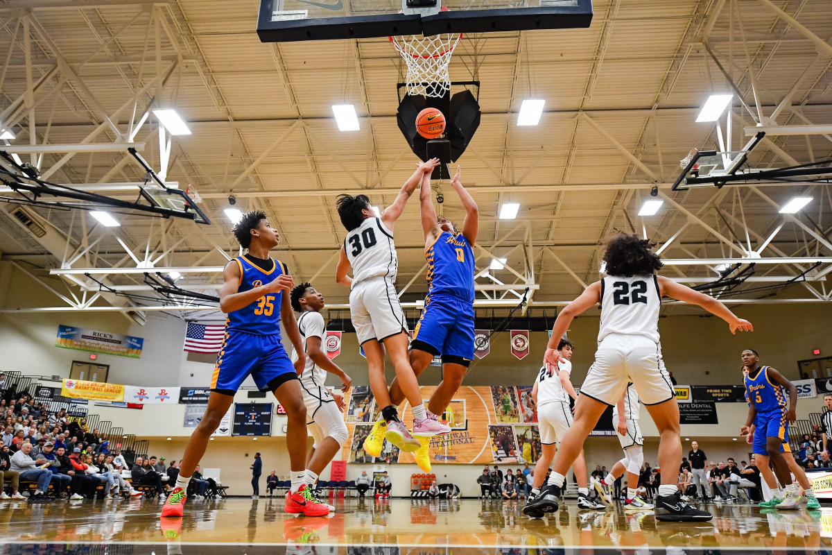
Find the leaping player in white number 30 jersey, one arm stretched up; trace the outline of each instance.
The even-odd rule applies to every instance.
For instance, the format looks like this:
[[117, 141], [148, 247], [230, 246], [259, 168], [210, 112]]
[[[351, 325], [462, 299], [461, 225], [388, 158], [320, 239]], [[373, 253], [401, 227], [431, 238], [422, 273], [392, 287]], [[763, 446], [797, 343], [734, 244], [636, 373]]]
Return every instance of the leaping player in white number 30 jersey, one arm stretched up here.
[[[367, 196], [339, 195], [337, 201], [341, 223], [348, 233], [341, 247], [335, 279], [351, 289], [349, 312], [359, 344], [367, 356], [370, 389], [384, 418], [384, 427], [379, 427], [379, 434], [384, 434], [390, 443], [409, 452], [415, 451], [421, 444], [410, 435], [399, 419], [396, 407], [390, 403], [384, 377], [385, 348], [393, 361], [404, 397], [413, 407], [414, 423], [426, 419], [427, 413], [419, 393], [418, 380], [410, 366], [408, 325], [394, 287], [399, 261], [393, 230], [423, 176], [432, 172], [438, 164], [436, 158], [419, 164], [414, 175], [405, 181], [396, 200], [380, 216], [374, 214]], [[352, 278], [347, 275], [350, 268], [353, 270]]]

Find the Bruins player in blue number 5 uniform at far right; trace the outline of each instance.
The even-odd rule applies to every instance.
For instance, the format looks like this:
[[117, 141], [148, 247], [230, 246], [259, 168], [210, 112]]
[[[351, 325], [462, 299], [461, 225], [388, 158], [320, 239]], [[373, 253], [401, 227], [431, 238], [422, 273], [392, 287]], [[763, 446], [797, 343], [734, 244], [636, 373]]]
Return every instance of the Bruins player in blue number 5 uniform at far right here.
[[[771, 471], [769, 462], [774, 464], [775, 475], [780, 485], [785, 488], [785, 495], [774, 483], [772, 498], [760, 503], [760, 507], [778, 509], [800, 508], [800, 495], [797, 484], [792, 482], [791, 473], [805, 489], [806, 508], [820, 509], [820, 503], [812, 491], [812, 484], [800, 465], [796, 463], [789, 447], [789, 424], [795, 422], [797, 415], [797, 388], [783, 374], [770, 366], [760, 366], [760, 355], [754, 349], [742, 352], [742, 364], [748, 369], [745, 374], [745, 392], [748, 396], [748, 419], [740, 434], [750, 433], [754, 423], [754, 456], [757, 468], [771, 488]], [[785, 408], [785, 392], [789, 391], [789, 409]], [[784, 454], [786, 453], [786, 454]], [[790, 461], [791, 459], [791, 461]], [[791, 464], [790, 464], [791, 462]]]

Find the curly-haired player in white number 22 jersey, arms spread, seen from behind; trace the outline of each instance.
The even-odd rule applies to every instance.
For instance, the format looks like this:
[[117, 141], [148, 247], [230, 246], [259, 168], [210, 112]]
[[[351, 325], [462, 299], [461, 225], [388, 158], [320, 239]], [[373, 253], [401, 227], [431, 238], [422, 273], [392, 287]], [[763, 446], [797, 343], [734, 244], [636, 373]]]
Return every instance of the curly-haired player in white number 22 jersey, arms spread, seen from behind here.
[[[557, 511], [564, 474], [604, 410], [621, 399], [630, 382], [635, 384], [659, 431], [660, 468], [679, 468], [679, 405], [661, 359], [659, 342], [662, 296], [701, 306], [726, 320], [732, 334], [736, 330], [752, 330], [749, 322], [738, 318], [720, 301], [655, 275], [662, 266], [659, 255], [651, 251], [655, 245], [636, 235], [620, 234], [612, 238], [603, 259], [607, 277], [587, 287], [557, 315], [543, 359], [547, 369], [556, 368], [559, 357], [554, 342], [566, 333], [572, 319], [594, 305], [601, 305], [598, 349], [575, 404], [575, 421], [562, 439], [549, 483], [535, 499], [534, 508], [543, 512]], [[659, 486], [656, 520], [684, 522], [711, 518], [711, 513], [682, 501], [676, 484]]]

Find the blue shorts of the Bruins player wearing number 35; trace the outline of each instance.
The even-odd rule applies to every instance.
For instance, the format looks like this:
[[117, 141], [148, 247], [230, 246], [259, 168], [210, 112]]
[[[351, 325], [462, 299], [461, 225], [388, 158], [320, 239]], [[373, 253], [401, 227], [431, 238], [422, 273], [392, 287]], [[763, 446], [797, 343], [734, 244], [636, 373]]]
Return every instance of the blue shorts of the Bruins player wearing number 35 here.
[[295, 366], [280, 343], [280, 335], [225, 332], [210, 382], [211, 391], [233, 395], [249, 376], [260, 391], [274, 391], [280, 384], [297, 379]]

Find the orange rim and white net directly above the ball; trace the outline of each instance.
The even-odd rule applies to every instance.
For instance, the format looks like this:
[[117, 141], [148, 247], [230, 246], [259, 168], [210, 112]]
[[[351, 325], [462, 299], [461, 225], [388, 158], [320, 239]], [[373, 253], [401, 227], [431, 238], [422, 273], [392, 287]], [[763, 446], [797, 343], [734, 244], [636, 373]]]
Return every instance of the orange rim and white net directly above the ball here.
[[[442, 7], [443, 12], [449, 12]], [[390, 42], [408, 65], [408, 94], [441, 98], [451, 90], [448, 64], [453, 49], [462, 39], [463, 33], [434, 35], [406, 35], [389, 37]]]

